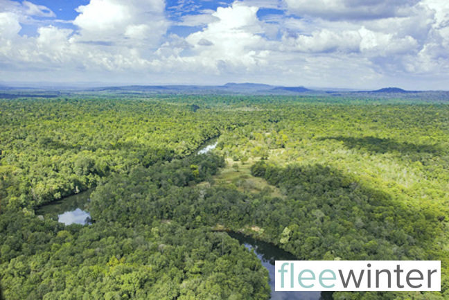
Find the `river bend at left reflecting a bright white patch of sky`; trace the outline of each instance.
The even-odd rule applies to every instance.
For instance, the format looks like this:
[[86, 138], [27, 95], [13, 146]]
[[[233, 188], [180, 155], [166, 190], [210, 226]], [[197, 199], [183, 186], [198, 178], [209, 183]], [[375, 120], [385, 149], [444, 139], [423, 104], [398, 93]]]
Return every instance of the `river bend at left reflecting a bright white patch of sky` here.
[[44, 215], [44, 218], [52, 218], [66, 225], [70, 224], [90, 224], [90, 213], [86, 211], [87, 202], [91, 190], [78, 193], [61, 200], [53, 201], [39, 207], [36, 215]]

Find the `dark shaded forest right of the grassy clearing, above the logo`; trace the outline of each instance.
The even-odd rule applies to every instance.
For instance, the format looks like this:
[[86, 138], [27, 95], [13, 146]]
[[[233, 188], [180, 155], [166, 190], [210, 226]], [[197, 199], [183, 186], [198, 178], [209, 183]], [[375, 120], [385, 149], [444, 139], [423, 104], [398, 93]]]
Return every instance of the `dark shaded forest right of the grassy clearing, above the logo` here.
[[265, 216], [256, 221], [277, 224], [272, 235], [299, 258], [428, 259], [426, 249], [441, 233], [438, 211], [399, 202], [335, 168], [259, 161], [252, 174], [287, 195], [259, 206]]

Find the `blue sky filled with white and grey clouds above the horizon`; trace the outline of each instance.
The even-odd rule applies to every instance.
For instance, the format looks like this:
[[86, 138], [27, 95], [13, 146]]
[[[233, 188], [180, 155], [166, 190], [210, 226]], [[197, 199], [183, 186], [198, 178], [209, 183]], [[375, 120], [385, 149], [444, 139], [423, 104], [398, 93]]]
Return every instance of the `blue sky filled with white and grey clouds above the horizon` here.
[[446, 0], [0, 0], [0, 84], [449, 89]]

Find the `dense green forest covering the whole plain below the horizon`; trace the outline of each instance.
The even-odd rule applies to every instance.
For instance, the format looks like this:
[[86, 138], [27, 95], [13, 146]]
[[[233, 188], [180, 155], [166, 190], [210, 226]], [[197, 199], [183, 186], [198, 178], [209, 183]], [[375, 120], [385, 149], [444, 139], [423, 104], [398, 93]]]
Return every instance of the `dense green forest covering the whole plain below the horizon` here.
[[[425, 100], [425, 99], [423, 99]], [[218, 146], [195, 155], [212, 137]], [[269, 299], [226, 231], [299, 259], [439, 260], [449, 298], [449, 107], [297, 96], [0, 100], [5, 299]], [[36, 209], [93, 188], [93, 224]]]

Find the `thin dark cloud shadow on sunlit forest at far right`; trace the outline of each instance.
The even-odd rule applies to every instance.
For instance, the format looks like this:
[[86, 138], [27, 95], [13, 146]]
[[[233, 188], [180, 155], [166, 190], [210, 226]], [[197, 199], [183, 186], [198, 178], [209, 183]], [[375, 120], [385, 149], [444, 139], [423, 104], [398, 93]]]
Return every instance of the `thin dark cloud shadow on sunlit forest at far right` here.
[[398, 142], [394, 139], [378, 138], [374, 136], [352, 137], [352, 136], [326, 136], [319, 140], [333, 139], [342, 141], [347, 148], [365, 150], [368, 152], [386, 153], [399, 152], [401, 154], [428, 153], [439, 156], [443, 154], [443, 148], [439, 145], [415, 144], [409, 142]]

